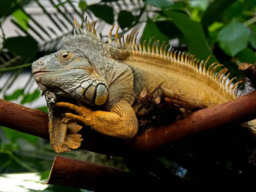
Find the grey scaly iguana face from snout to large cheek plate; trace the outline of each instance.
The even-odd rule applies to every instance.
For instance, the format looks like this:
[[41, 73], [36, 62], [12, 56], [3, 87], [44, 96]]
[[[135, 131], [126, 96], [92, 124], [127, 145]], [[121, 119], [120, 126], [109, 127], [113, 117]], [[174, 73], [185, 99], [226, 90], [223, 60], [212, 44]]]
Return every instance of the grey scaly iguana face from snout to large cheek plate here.
[[102, 105], [108, 98], [105, 80], [84, 55], [72, 49], [38, 59], [32, 64], [32, 73], [41, 89], [59, 89], [90, 105]]

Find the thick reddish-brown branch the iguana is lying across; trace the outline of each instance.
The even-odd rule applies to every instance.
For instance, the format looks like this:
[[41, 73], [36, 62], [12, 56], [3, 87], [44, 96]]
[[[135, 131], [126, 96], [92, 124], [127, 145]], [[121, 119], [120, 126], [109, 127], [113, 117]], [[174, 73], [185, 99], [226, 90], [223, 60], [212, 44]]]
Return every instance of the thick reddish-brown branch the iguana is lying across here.
[[[171, 125], [151, 128], [132, 140], [107, 137], [83, 128], [81, 148], [101, 154], [127, 157], [134, 153], [155, 152], [164, 145], [231, 123], [255, 119], [256, 92], [248, 93], [224, 104], [196, 111]], [[0, 100], [0, 125], [49, 138], [47, 114]]]

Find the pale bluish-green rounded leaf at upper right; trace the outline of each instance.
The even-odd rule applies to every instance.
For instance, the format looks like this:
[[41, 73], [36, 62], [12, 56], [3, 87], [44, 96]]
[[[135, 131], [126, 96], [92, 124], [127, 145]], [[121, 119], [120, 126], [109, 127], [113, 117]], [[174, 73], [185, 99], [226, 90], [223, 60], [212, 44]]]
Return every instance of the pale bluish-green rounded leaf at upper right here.
[[247, 47], [250, 29], [242, 23], [233, 21], [218, 33], [218, 43], [227, 55], [234, 57]]

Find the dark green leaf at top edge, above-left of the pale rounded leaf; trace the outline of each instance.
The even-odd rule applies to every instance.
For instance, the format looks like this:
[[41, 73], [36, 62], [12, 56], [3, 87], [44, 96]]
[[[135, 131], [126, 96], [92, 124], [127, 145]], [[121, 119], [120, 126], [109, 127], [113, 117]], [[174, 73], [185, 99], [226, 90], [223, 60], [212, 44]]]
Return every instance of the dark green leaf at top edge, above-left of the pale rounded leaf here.
[[230, 6], [234, 1], [236, 1], [236, 0], [215, 0], [215, 1], [213, 1], [208, 6], [206, 11], [204, 12], [201, 22], [204, 22], [209, 26], [214, 21], [217, 21], [220, 18], [221, 13], [228, 6]]

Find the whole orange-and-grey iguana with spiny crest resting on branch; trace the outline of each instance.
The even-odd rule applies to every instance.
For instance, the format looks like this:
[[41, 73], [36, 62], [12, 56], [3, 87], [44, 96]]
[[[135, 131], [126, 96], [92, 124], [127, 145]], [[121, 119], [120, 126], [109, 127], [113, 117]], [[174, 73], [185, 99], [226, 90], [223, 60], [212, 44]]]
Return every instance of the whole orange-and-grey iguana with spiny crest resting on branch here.
[[[137, 116], [146, 112], [137, 102], [143, 90], [156, 93], [161, 86], [207, 107], [237, 97], [241, 82], [230, 86], [231, 79], [226, 87], [230, 73], [225, 76], [227, 68], [215, 73], [222, 66], [217, 63], [206, 69], [209, 58], [200, 62], [172, 47], [167, 51], [165, 42], [154, 41], [151, 47], [151, 39], [146, 46], [140, 38], [137, 45], [137, 29], [125, 39], [118, 35], [119, 26], [114, 44], [114, 26], [106, 44], [102, 35], [96, 34], [95, 23], [92, 27], [86, 19], [83, 31], [75, 18], [73, 35], [67, 36], [63, 47], [32, 64], [35, 81], [47, 99], [54, 151], [80, 146], [77, 131], [81, 126], [76, 121], [111, 137], [133, 138], [138, 131]], [[56, 102], [61, 96], [76, 102]], [[71, 111], [64, 113], [61, 107]]]

